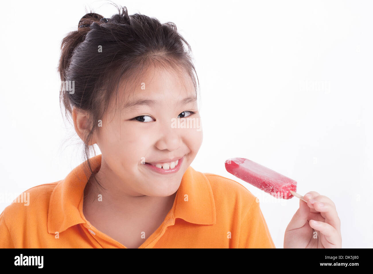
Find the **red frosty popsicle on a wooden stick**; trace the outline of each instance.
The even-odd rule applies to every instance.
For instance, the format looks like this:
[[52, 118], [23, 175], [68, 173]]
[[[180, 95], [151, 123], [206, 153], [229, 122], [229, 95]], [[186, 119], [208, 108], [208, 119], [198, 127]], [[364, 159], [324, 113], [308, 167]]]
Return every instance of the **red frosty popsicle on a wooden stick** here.
[[246, 158], [231, 158], [225, 161], [225, 169], [245, 182], [269, 193], [275, 198], [291, 199], [303, 196], [296, 193], [297, 182]]

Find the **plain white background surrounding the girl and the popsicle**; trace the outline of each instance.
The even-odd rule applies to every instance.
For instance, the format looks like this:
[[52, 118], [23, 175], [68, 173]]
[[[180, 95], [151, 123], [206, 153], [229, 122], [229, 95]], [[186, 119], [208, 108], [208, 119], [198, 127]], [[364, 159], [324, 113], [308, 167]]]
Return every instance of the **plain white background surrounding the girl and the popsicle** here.
[[[6, 1], [1, 23], [0, 211], [7, 196], [62, 180], [82, 162], [59, 108], [60, 42], [107, 1]], [[369, 1], [119, 1], [176, 23], [201, 84], [204, 141], [191, 166], [260, 200], [277, 248], [299, 199], [277, 200], [225, 170], [256, 161], [336, 204], [342, 248], [372, 248], [372, 25]], [[97, 151], [97, 154], [100, 152]], [[5, 198], [4, 198], [5, 197]]]

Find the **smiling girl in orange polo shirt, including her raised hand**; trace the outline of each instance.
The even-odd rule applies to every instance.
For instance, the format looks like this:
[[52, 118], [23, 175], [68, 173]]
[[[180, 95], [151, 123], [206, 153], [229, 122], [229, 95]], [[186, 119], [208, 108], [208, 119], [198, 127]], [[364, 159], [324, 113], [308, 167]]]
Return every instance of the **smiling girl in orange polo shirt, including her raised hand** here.
[[[62, 41], [60, 101], [86, 161], [9, 205], [0, 247], [275, 248], [251, 192], [190, 166], [203, 133], [189, 44], [172, 22], [117, 8], [87, 13]], [[334, 203], [304, 198], [284, 247], [341, 248]]]

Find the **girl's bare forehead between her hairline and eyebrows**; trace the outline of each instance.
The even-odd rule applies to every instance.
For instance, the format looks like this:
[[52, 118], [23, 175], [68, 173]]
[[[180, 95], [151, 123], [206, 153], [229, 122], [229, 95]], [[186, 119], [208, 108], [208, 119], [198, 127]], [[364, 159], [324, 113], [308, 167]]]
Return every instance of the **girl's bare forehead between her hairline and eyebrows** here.
[[176, 105], [197, 101], [191, 77], [185, 70], [172, 67], [151, 66], [135, 73], [120, 85], [119, 93], [125, 109], [141, 105], [155, 107], [164, 101]]

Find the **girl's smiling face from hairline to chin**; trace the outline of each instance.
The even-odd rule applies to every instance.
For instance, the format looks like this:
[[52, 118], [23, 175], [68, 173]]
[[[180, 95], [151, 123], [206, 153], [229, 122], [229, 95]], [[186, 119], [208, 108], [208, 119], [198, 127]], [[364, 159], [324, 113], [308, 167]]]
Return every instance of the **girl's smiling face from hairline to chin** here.
[[[99, 177], [127, 195], [169, 196], [178, 190], [202, 144], [197, 97], [190, 77], [181, 78], [172, 70], [150, 67], [138, 79], [131, 96], [120, 87], [119, 100], [113, 100], [117, 102], [102, 119], [95, 139], [102, 153]], [[155, 103], [126, 106], [138, 100]], [[174, 158], [182, 160], [173, 173], [161, 174], [145, 164]]]

